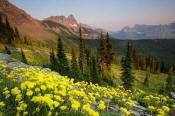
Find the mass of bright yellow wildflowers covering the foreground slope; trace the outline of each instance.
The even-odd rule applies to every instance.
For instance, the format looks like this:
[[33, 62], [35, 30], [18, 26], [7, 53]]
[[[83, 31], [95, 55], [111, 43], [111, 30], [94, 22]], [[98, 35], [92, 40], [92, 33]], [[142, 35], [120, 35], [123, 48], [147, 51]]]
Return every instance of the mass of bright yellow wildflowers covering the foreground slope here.
[[[0, 64], [0, 69], [4, 71], [4, 68], [7, 67]], [[67, 76], [47, 73], [45, 70], [33, 67], [28, 69], [15, 67], [14, 71], [6, 75], [7, 80], [19, 78], [20, 81], [13, 81], [16, 86], [12, 89], [3, 88], [4, 102], [0, 102], [0, 107], [4, 107], [8, 100], [14, 101], [17, 113], [23, 115], [37, 115], [41, 112], [57, 115], [59, 111], [71, 109], [83, 111], [87, 116], [99, 116], [99, 111], [105, 109], [107, 111], [108, 105], [113, 101], [121, 107], [120, 110], [124, 115], [130, 115], [128, 109], [134, 106], [133, 100], [144, 95], [143, 91], [125, 90], [122, 86], [112, 88], [84, 81], [74, 83], [74, 80]], [[168, 97], [146, 95], [143, 101], [157, 114], [169, 111], [165, 105], [170, 101]], [[92, 109], [94, 103], [98, 106]]]

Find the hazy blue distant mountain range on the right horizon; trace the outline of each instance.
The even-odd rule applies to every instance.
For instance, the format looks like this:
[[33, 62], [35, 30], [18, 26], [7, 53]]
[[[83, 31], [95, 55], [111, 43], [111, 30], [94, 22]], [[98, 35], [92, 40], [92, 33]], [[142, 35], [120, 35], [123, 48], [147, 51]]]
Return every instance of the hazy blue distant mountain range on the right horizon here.
[[118, 39], [175, 39], [175, 22], [167, 25], [135, 25], [112, 33]]

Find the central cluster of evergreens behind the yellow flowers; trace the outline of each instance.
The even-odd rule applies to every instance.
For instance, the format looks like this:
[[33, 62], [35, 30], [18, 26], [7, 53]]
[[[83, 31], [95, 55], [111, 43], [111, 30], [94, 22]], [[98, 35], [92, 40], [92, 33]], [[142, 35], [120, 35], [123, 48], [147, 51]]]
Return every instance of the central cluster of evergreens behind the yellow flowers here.
[[52, 70], [61, 75], [72, 77], [75, 81], [85, 80], [98, 84], [112, 84], [110, 68], [114, 54], [108, 33], [106, 39], [101, 33], [98, 49], [92, 50], [85, 46], [80, 27], [79, 48], [75, 52], [75, 48], [72, 47], [70, 62], [66, 57], [60, 37], [58, 38], [56, 53], [54, 51], [54, 49], [50, 51], [50, 67]]

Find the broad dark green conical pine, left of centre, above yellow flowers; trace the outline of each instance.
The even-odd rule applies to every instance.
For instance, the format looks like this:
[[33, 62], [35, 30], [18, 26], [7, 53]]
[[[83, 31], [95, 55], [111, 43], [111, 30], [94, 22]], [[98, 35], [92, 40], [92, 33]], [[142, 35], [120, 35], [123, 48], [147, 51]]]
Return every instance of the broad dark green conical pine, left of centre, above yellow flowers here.
[[70, 74], [70, 68], [68, 60], [66, 58], [63, 44], [61, 38], [58, 38], [58, 47], [57, 47], [57, 58], [58, 58], [58, 71], [61, 75], [67, 76]]

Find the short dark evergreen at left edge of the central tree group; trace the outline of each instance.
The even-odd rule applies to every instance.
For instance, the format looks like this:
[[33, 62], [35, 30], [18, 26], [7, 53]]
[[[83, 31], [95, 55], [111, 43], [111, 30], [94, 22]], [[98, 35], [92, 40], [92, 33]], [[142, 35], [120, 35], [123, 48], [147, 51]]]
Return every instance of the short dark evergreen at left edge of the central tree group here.
[[51, 49], [50, 50], [50, 68], [52, 69], [52, 70], [57, 70], [57, 59], [56, 59], [56, 57], [55, 57], [55, 53], [54, 53], [54, 50], [53, 49]]

